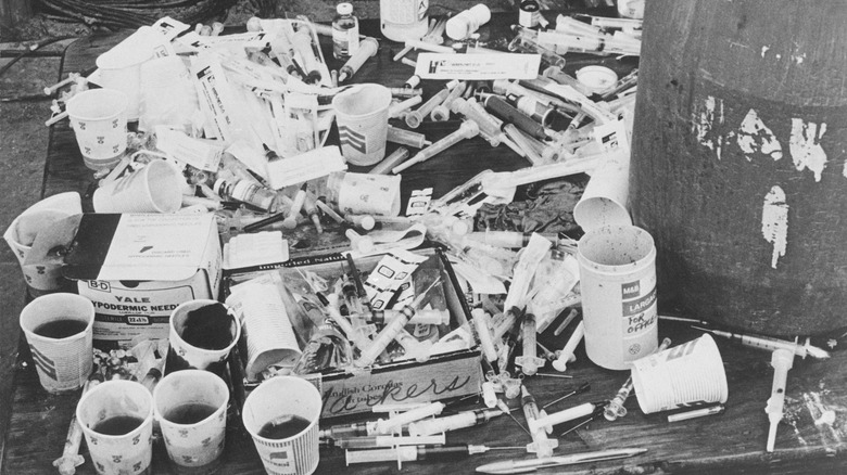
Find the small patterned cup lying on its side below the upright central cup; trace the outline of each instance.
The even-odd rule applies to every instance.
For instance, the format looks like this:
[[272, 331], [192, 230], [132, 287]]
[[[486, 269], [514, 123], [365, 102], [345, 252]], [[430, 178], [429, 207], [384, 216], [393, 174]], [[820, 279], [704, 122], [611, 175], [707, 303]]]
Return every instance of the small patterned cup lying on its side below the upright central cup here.
[[334, 172], [327, 181], [332, 201], [345, 215], [400, 215], [399, 175]]

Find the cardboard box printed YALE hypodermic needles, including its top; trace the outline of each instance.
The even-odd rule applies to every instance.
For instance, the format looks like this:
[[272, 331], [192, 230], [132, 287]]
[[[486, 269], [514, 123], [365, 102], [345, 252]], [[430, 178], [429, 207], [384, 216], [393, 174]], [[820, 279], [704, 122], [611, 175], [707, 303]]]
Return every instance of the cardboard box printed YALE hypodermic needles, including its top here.
[[181, 303], [217, 299], [220, 243], [212, 215], [83, 215], [63, 275], [94, 304], [94, 346], [165, 339]]

